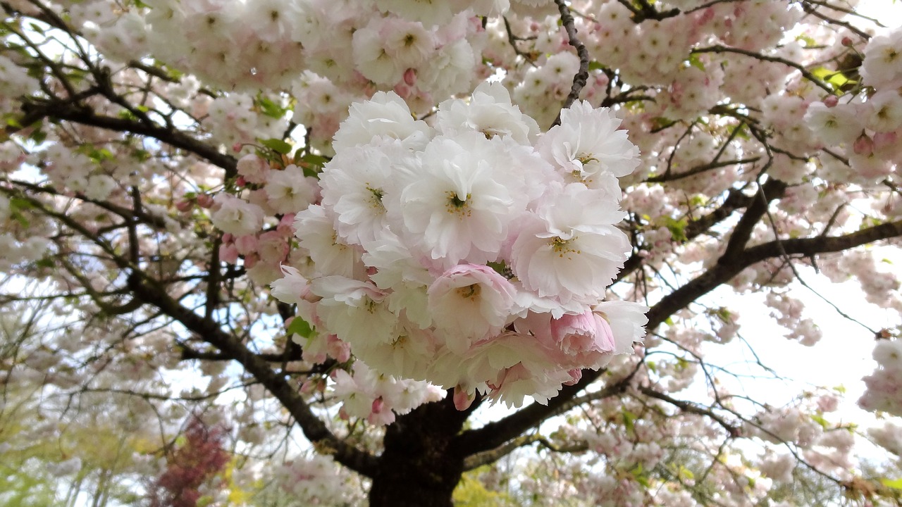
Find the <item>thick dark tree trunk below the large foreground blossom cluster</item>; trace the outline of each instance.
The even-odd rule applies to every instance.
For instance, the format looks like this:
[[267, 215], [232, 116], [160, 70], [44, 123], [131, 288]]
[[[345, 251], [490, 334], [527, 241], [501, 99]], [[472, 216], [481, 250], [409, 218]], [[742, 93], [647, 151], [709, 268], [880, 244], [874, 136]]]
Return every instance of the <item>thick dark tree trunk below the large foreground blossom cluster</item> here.
[[398, 417], [385, 429], [370, 507], [452, 507], [464, 456], [451, 448], [470, 411], [450, 395]]

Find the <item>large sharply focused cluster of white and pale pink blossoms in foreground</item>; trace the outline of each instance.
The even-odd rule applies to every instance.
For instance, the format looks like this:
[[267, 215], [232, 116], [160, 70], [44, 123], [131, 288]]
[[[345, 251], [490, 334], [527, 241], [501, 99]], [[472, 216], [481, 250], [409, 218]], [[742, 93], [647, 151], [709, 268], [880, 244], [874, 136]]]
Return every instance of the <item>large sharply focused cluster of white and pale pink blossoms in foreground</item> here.
[[391, 92], [354, 104], [295, 218], [312, 266], [283, 266], [272, 293], [460, 409], [476, 392], [547, 401], [644, 335], [645, 307], [605, 300], [630, 253], [618, 177], [638, 164], [619, 125], [580, 102], [540, 134], [497, 83], [431, 124]]

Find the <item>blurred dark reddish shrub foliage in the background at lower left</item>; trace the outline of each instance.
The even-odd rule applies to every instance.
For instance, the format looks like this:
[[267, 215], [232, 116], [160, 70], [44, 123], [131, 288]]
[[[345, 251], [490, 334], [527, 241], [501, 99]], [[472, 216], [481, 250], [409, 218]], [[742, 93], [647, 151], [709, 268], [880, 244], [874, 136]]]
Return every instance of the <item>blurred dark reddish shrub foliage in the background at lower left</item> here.
[[221, 472], [229, 460], [223, 448], [225, 429], [209, 428], [192, 418], [185, 430], [185, 443], [167, 456], [168, 466], [153, 484], [151, 507], [196, 507], [199, 488]]

